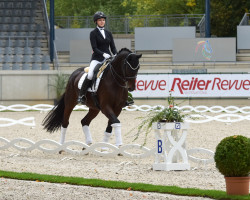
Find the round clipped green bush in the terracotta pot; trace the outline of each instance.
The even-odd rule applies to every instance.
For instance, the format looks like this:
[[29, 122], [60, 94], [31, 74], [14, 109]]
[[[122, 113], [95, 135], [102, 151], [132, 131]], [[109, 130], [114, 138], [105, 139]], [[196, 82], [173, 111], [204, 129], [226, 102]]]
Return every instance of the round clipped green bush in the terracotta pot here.
[[234, 135], [217, 145], [214, 160], [216, 168], [226, 177], [250, 174], [250, 138]]

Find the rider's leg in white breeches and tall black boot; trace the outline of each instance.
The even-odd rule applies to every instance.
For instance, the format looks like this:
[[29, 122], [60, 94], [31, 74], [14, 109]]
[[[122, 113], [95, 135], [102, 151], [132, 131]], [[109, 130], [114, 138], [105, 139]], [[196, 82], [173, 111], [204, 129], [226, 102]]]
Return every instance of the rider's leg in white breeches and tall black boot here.
[[100, 62], [97, 61], [97, 60], [92, 60], [91, 63], [90, 63], [88, 75], [85, 78], [85, 80], [84, 80], [84, 82], [82, 84], [81, 90], [79, 92], [79, 96], [78, 96], [78, 102], [79, 103], [82, 103], [82, 104], [86, 103], [87, 90], [91, 86], [92, 78], [93, 78], [93, 75], [94, 75], [94, 69], [95, 69], [95, 66], [98, 63], [100, 63]]

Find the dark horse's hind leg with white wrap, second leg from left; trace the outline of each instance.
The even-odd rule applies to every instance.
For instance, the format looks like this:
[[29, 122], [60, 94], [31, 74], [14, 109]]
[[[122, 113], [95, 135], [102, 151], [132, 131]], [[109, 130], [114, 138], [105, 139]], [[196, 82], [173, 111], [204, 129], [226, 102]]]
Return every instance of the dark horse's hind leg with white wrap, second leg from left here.
[[99, 112], [99, 110], [94, 110], [90, 108], [87, 115], [81, 120], [82, 130], [85, 135], [85, 142], [87, 145], [91, 145], [93, 143], [89, 124], [98, 115]]

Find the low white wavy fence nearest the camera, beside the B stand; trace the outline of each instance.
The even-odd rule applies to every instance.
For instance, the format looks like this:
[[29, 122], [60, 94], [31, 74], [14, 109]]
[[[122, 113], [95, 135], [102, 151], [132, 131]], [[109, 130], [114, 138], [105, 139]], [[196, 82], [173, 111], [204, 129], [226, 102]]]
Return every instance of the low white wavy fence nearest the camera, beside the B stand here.
[[[44, 153], [50, 153], [50, 154], [58, 153], [60, 151], [65, 151], [72, 155], [86, 155], [89, 153], [97, 155], [97, 156], [102, 156], [102, 157], [114, 157], [117, 155], [123, 155], [124, 157], [132, 158], [132, 159], [142, 159], [142, 158], [148, 158], [150, 156], [155, 156], [155, 152], [156, 152], [156, 148], [149, 149], [139, 144], [127, 144], [118, 148], [115, 145], [112, 145], [110, 143], [105, 143], [105, 142], [99, 142], [99, 143], [92, 144], [91, 146], [88, 146], [87, 144], [78, 142], [78, 141], [67, 141], [64, 144], [60, 144], [54, 140], [48, 140], [48, 139], [40, 140], [38, 142], [33, 142], [25, 138], [16, 138], [16, 139], [13, 139], [12, 141], [9, 141], [6, 138], [0, 137], [0, 144], [1, 143], [3, 145], [0, 146], [0, 150], [4, 150], [4, 149], [8, 149], [12, 147], [21, 152], [30, 152], [32, 150], [37, 149]], [[21, 146], [20, 143], [22, 143], [23, 146]], [[27, 145], [29, 146], [27, 147]], [[47, 145], [50, 145], [50, 148], [46, 148], [45, 146]], [[74, 146], [74, 147], [78, 146], [80, 149], [84, 149], [84, 150], [73, 150], [72, 148], [70, 148], [70, 146]], [[102, 151], [101, 149], [104, 149], [104, 148], [105, 150], [108, 149], [109, 151]], [[129, 152], [132, 150], [137, 150], [140, 152], [139, 153]], [[194, 163], [203, 164], [203, 165], [214, 163], [214, 159], [213, 159], [214, 152], [208, 149], [203, 149], [203, 148], [189, 149], [187, 150], [187, 154], [188, 154], [188, 159]], [[195, 155], [206, 154], [205, 156], [206, 158], [197, 158], [193, 154]]]

